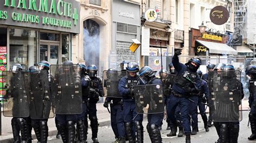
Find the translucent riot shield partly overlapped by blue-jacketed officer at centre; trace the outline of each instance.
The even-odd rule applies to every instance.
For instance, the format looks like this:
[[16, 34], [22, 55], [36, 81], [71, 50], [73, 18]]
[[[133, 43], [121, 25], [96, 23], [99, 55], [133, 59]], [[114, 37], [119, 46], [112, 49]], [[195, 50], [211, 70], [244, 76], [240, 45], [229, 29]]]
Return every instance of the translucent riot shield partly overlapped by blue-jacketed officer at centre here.
[[122, 98], [118, 91], [118, 83], [126, 71], [103, 71], [103, 88], [106, 97]]

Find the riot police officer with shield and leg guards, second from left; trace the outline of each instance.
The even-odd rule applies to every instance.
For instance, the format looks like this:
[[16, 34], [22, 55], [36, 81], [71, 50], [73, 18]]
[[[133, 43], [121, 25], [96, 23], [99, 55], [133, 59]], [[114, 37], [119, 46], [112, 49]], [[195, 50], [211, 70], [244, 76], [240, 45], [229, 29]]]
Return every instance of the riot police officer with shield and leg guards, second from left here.
[[38, 68], [29, 68], [29, 93], [31, 125], [35, 131], [39, 142], [47, 142], [48, 139], [48, 118], [51, 110], [51, 91], [50, 91], [50, 64], [47, 61], [40, 61]]

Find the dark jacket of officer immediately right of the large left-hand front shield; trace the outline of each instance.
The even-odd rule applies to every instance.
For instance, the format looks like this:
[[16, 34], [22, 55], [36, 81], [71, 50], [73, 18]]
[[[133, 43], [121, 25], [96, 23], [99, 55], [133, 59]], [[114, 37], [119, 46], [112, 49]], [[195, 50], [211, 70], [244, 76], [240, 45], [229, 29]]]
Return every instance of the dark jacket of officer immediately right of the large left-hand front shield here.
[[87, 101], [88, 98], [89, 98], [89, 95], [90, 95], [90, 87], [89, 87], [90, 80], [91, 80], [91, 78], [88, 75], [84, 75], [82, 77], [81, 85], [82, 85], [82, 98], [83, 98], [83, 101]]

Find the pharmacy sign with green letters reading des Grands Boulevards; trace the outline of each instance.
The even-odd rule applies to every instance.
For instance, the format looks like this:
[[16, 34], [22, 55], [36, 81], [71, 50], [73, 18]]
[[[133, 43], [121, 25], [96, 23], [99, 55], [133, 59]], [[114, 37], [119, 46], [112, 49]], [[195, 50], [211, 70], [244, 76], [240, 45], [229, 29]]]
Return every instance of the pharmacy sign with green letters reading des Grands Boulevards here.
[[2, 0], [0, 24], [70, 33], [80, 31], [80, 4], [73, 0]]

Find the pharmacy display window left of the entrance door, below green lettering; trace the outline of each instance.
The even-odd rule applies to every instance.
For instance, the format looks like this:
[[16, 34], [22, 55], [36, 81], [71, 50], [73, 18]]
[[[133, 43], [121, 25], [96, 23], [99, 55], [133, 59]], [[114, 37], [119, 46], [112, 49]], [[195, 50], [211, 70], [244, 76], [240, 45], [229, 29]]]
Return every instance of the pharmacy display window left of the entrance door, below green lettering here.
[[37, 31], [10, 30], [10, 67], [20, 63], [28, 68], [36, 63]]

